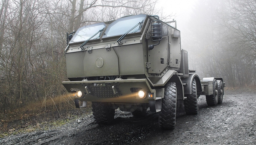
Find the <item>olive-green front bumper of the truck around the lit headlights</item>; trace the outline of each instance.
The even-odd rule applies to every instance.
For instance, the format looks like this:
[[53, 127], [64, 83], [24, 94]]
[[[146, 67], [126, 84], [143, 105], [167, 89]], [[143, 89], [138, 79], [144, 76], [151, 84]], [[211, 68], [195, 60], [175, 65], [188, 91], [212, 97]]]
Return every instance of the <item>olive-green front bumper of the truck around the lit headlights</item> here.
[[[147, 79], [122, 79], [105, 81], [68, 81], [62, 82], [63, 86], [71, 92], [77, 90], [83, 92], [80, 101], [116, 102], [116, 103], [149, 103], [156, 99], [155, 89], [151, 89]], [[146, 92], [144, 99], [137, 97], [137, 92], [132, 88], [141, 88]], [[153, 98], [148, 98], [147, 93], [154, 93]]]

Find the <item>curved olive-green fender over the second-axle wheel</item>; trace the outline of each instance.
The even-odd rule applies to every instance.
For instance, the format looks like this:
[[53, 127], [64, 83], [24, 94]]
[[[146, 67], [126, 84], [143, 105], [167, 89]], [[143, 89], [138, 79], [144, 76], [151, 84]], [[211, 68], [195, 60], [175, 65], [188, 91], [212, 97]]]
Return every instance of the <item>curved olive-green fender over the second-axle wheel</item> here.
[[[201, 82], [199, 76], [195, 73], [189, 73], [189, 77], [181, 78], [184, 86], [184, 94], [192, 94], [192, 81], [195, 78], [197, 83], [197, 97], [200, 96], [200, 92], [202, 91]], [[213, 78], [214, 79], [214, 78]]]

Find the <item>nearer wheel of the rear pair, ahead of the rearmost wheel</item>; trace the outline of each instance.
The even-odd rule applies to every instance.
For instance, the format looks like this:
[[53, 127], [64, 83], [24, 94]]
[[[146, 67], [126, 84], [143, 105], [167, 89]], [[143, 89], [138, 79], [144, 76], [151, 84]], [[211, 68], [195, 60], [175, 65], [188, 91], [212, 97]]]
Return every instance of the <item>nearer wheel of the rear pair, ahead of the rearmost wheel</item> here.
[[219, 100], [219, 93], [218, 93], [218, 82], [216, 79], [213, 81], [213, 94], [206, 95], [206, 103], [207, 105], [217, 105]]

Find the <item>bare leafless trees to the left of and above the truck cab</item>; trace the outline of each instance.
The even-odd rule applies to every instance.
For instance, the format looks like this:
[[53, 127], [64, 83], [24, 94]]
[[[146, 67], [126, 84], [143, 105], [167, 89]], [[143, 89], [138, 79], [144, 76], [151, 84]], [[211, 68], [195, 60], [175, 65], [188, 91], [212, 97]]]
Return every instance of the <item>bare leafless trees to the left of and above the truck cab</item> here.
[[[2, 112], [66, 92], [66, 32], [124, 15], [152, 14], [156, 0], [2, 0]], [[56, 107], [55, 107], [56, 108]]]

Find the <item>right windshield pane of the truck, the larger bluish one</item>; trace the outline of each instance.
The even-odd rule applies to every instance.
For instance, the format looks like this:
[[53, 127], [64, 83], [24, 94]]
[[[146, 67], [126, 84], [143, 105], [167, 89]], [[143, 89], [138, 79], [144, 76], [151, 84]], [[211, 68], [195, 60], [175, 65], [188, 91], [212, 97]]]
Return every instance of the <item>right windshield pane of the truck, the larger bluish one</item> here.
[[[107, 30], [102, 38], [123, 35], [127, 31], [129, 31], [132, 27], [137, 25], [139, 22], [145, 21], [146, 16], [147, 15], [140, 14], [135, 16], [126, 16], [126, 17], [117, 19], [107, 27]], [[141, 26], [138, 25], [128, 34], [137, 33], [137, 32], [140, 32], [140, 30], [141, 30]]]

